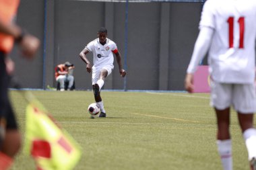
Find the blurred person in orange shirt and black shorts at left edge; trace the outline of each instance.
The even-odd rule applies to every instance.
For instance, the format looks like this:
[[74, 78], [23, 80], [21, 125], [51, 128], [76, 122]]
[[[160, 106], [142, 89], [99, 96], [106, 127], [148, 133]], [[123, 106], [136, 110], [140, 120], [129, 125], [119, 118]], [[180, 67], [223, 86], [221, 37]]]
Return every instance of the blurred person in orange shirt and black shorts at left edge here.
[[7, 54], [16, 42], [24, 57], [33, 58], [40, 44], [38, 38], [25, 34], [13, 23], [18, 10], [18, 0], [0, 0], [0, 169], [11, 166], [13, 157], [18, 153], [21, 136], [8, 97], [10, 76], [14, 62]]

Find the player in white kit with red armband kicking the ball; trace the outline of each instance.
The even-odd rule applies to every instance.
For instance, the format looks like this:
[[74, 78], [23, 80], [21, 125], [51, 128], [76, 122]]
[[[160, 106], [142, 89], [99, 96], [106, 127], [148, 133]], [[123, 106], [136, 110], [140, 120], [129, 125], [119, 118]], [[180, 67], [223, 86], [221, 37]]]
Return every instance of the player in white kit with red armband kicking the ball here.
[[[98, 38], [87, 44], [87, 46], [80, 52], [79, 56], [86, 62], [86, 71], [92, 72], [92, 89], [94, 91], [94, 99], [100, 107], [100, 118], [106, 117], [102, 98], [100, 97], [100, 89], [104, 85], [104, 79], [110, 75], [114, 69], [114, 56], [117, 58], [119, 65], [119, 73], [121, 77], [125, 77], [126, 71], [123, 69], [121, 63], [121, 54], [117, 49], [117, 44], [112, 40], [106, 38], [108, 32], [106, 28], [100, 28], [98, 31]], [[94, 65], [92, 67], [90, 60], [86, 54], [93, 52]]]

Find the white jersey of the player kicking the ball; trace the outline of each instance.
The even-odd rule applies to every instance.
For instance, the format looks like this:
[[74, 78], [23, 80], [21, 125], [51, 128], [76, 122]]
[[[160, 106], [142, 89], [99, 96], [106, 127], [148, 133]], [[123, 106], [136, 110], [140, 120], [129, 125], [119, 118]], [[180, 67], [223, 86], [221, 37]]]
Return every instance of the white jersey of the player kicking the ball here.
[[93, 52], [94, 67], [113, 65], [113, 52], [117, 51], [117, 44], [106, 38], [106, 44], [102, 46], [98, 38], [87, 44], [86, 49]]

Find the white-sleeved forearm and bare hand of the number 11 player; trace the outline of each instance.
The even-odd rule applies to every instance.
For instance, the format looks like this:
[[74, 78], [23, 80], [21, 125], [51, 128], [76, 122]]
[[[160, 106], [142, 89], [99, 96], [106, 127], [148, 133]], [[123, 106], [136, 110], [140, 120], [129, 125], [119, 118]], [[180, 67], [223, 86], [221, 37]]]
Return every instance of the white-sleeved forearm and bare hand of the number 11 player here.
[[194, 73], [197, 69], [197, 66], [199, 65], [200, 60], [203, 59], [203, 57], [207, 53], [207, 50], [210, 48], [213, 34], [214, 30], [209, 27], [202, 27], [199, 32], [199, 35], [195, 42], [193, 54], [189, 62], [189, 67], [187, 68], [187, 75], [185, 77], [185, 89], [189, 93], [193, 93], [194, 91]]

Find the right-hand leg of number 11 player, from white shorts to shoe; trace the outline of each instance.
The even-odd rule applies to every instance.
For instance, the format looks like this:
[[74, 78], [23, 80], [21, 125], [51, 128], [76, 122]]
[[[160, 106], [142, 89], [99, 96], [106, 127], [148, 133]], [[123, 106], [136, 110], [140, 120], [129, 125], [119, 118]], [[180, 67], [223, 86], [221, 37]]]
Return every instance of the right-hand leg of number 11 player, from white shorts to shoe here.
[[256, 170], [256, 129], [253, 127], [253, 113], [256, 111], [254, 85], [236, 85], [234, 109], [238, 112], [238, 122], [247, 146], [251, 169]]

